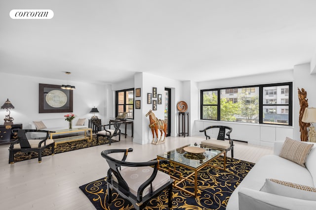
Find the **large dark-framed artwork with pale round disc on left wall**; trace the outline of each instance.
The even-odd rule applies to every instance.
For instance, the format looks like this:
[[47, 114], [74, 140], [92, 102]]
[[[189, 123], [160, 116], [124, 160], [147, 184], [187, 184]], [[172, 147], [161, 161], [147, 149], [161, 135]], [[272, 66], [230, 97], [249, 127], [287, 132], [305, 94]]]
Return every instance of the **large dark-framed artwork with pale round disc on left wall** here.
[[39, 84], [39, 113], [73, 112], [73, 90]]

